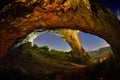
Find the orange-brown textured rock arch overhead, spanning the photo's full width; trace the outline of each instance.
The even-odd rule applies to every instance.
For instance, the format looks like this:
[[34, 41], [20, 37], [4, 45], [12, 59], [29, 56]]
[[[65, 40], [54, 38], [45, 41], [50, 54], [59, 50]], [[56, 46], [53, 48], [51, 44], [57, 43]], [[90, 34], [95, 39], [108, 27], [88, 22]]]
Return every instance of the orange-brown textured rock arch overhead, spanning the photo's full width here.
[[[89, 3], [90, 1], [90, 3]], [[120, 23], [94, 0], [15, 0], [0, 11], [0, 56], [35, 29], [71, 28], [105, 39], [120, 57]]]

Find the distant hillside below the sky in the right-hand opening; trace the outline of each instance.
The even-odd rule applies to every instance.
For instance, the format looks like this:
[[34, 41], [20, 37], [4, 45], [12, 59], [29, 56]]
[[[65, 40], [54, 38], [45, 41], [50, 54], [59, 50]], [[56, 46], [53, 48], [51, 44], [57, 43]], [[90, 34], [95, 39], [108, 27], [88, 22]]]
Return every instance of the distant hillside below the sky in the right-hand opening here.
[[88, 52], [88, 54], [94, 59], [99, 59], [101, 57], [108, 57], [111, 53], [112, 53], [112, 50], [110, 46], [100, 48], [99, 50]]

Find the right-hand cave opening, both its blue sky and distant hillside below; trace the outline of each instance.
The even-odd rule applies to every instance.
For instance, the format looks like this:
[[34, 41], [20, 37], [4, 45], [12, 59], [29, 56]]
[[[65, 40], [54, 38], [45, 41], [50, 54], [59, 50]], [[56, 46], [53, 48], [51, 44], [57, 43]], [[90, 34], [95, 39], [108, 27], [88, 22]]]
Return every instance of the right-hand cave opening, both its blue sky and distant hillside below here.
[[113, 54], [111, 46], [104, 39], [89, 33], [79, 32], [81, 44], [89, 56], [95, 60], [105, 60]]

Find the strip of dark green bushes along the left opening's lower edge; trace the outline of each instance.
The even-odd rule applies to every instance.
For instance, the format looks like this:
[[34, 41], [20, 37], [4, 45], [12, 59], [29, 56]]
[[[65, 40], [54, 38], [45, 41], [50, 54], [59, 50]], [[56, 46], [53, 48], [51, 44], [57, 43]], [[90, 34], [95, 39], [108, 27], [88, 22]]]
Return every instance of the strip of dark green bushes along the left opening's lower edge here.
[[87, 58], [73, 58], [71, 52], [57, 51], [55, 49], [50, 50], [48, 46], [38, 47], [36, 44], [34, 44], [34, 46], [32, 47], [30, 42], [22, 44], [19, 47], [12, 49], [10, 51], [10, 54], [11, 53], [19, 53], [19, 55], [41, 54], [49, 58], [54, 58], [62, 61], [70, 61], [77, 64], [86, 64], [89, 61], [89, 59]]

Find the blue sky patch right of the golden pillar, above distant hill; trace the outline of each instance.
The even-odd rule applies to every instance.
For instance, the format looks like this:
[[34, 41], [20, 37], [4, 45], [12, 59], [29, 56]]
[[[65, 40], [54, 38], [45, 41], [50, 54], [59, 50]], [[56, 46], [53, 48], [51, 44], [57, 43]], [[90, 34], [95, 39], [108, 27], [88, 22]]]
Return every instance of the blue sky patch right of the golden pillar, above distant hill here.
[[98, 50], [101, 47], [109, 46], [104, 39], [95, 35], [80, 32], [78, 36], [80, 37], [82, 46], [86, 51]]

